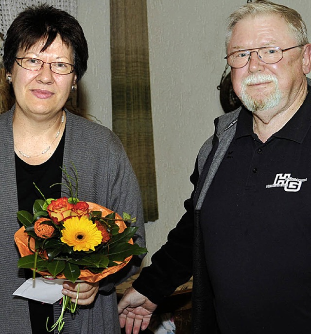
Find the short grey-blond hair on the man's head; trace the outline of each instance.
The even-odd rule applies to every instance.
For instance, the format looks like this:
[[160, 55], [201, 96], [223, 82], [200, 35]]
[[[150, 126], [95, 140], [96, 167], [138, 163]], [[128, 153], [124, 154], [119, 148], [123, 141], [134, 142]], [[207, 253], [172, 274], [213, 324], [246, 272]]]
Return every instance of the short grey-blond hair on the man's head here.
[[243, 5], [228, 17], [225, 34], [226, 50], [233, 28], [240, 20], [246, 17], [260, 17], [263, 15], [278, 15], [282, 17], [288, 25], [289, 33], [293, 35], [298, 45], [309, 43], [306, 24], [298, 12], [292, 8], [268, 0], [257, 0], [256, 2]]

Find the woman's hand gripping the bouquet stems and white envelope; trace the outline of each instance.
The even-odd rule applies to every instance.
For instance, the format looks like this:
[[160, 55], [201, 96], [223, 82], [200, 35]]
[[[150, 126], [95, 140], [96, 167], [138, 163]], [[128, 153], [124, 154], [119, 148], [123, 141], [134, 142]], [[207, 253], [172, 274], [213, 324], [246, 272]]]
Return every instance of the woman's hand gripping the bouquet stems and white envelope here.
[[72, 283], [66, 281], [63, 283], [62, 294], [71, 298], [72, 302], [76, 302], [77, 291], [79, 284], [79, 296], [78, 296], [78, 305], [89, 305], [94, 300], [98, 293], [99, 282], [97, 283]]

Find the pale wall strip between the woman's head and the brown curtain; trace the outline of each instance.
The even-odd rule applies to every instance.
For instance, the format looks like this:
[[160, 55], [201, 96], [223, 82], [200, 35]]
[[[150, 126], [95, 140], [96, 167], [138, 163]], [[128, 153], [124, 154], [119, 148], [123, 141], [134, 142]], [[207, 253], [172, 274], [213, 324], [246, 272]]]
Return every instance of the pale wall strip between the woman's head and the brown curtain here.
[[79, 87], [80, 105], [111, 129], [109, 0], [77, 0], [77, 18], [88, 43], [88, 68]]

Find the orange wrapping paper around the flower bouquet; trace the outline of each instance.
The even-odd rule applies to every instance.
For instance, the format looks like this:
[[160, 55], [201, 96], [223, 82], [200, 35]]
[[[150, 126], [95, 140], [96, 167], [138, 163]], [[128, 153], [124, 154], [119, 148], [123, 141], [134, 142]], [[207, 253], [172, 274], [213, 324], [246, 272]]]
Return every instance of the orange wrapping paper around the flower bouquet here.
[[[110, 213], [113, 212], [113, 211], [105, 208], [104, 206], [98, 205], [96, 203], [92, 203], [92, 202], [86, 202], [86, 203], [89, 205], [89, 210], [90, 211], [101, 211], [103, 213], [103, 215], [102, 215], [103, 217], [105, 217], [105, 216], [107, 216], [107, 215], [109, 215]], [[116, 213], [116, 218], [117, 219], [122, 219], [117, 213]], [[119, 233], [121, 233], [125, 230], [126, 225], [125, 225], [124, 221], [122, 221], [122, 220], [116, 221], [116, 224], [120, 227]], [[21, 227], [15, 233], [14, 240], [15, 240], [15, 243], [17, 244], [17, 248], [19, 250], [19, 253], [20, 253], [21, 257], [33, 254], [28, 248], [28, 234], [25, 233], [24, 226]], [[133, 244], [133, 240], [130, 239], [129, 243]], [[35, 240], [33, 238], [30, 239], [30, 247], [31, 247], [31, 249], [34, 249], [34, 247], [35, 247]], [[86, 281], [86, 282], [90, 282], [90, 283], [98, 282], [101, 279], [103, 279], [104, 277], [107, 277], [107, 276], [119, 271], [121, 268], [125, 267], [128, 264], [128, 262], [131, 260], [131, 258], [132, 258], [132, 256], [129, 256], [123, 262], [117, 262], [117, 263], [119, 263], [118, 266], [108, 267], [108, 268], [104, 269], [104, 271], [102, 271], [101, 273], [98, 273], [98, 274], [94, 274], [90, 270], [87, 270], [87, 269], [81, 269], [81, 274], [79, 276], [79, 279], [83, 280], [83, 281]], [[43, 276], [50, 275], [50, 273], [47, 272], [47, 271], [38, 271], [38, 272]], [[62, 274], [57, 275], [56, 278], [66, 279], [66, 277]]]

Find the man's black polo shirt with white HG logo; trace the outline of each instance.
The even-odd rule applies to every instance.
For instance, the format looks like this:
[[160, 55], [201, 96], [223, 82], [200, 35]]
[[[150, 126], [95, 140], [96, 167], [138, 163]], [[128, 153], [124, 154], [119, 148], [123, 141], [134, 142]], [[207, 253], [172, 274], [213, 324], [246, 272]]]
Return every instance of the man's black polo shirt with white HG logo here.
[[201, 211], [222, 334], [311, 333], [311, 94], [266, 143], [242, 109]]

